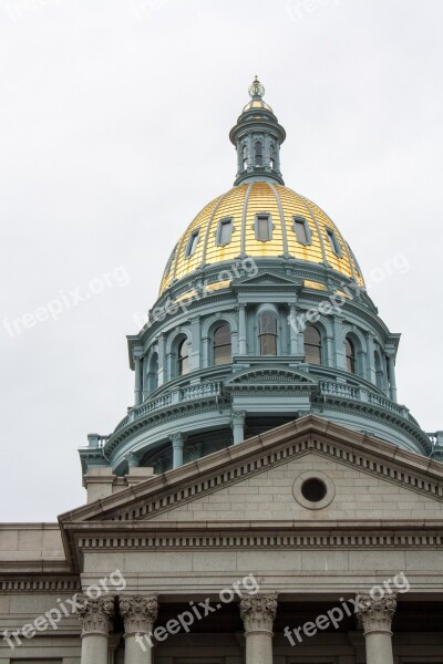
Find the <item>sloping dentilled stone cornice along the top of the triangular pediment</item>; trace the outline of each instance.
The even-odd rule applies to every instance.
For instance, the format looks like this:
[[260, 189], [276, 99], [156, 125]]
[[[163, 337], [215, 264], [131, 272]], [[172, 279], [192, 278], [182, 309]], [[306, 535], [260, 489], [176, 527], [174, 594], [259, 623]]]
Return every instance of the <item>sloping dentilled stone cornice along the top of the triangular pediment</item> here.
[[309, 415], [62, 515], [60, 523], [150, 519], [312, 452], [443, 501], [439, 461]]

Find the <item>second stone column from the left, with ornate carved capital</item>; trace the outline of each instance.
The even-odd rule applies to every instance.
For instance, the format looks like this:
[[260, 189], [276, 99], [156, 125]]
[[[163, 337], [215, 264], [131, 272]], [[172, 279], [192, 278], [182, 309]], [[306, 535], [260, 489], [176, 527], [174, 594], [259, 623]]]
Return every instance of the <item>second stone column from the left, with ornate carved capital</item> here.
[[152, 635], [157, 619], [157, 598], [121, 598], [120, 614], [124, 622], [125, 664], [151, 664]]

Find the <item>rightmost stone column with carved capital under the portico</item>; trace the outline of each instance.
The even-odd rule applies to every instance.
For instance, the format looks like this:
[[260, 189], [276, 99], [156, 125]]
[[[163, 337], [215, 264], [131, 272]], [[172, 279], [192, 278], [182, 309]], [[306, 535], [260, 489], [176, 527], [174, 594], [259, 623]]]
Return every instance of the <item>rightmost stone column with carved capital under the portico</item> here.
[[367, 664], [393, 664], [391, 624], [395, 606], [394, 594], [375, 599], [358, 595], [357, 615], [363, 624]]

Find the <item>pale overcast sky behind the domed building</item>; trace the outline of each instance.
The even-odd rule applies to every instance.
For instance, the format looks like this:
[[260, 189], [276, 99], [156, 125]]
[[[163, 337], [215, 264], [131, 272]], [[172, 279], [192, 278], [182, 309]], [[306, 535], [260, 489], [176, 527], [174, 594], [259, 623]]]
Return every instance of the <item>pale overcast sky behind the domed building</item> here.
[[442, 22], [441, 0], [0, 0], [1, 520], [85, 501], [76, 448], [133, 403], [125, 335], [233, 184], [255, 74], [287, 185], [402, 333], [399, 401], [443, 429]]

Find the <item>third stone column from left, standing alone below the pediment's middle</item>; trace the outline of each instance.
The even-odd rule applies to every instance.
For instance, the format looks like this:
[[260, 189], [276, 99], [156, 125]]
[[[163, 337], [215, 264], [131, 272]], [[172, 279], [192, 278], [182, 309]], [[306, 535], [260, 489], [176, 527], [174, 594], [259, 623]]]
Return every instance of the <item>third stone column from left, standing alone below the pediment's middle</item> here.
[[272, 624], [276, 613], [276, 594], [256, 594], [241, 600], [246, 664], [272, 664]]

